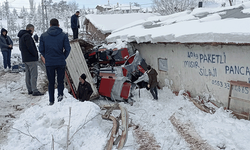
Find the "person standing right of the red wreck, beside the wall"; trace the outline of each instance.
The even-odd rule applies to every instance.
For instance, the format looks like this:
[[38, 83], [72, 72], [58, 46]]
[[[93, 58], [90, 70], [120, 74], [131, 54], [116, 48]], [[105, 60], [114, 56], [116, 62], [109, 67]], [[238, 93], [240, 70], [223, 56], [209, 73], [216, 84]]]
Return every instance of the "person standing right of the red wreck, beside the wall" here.
[[150, 65], [147, 66], [147, 74], [148, 74], [148, 88], [150, 89], [151, 94], [153, 95], [155, 100], [158, 100], [157, 93], [157, 75], [158, 73], [154, 68], [151, 68]]

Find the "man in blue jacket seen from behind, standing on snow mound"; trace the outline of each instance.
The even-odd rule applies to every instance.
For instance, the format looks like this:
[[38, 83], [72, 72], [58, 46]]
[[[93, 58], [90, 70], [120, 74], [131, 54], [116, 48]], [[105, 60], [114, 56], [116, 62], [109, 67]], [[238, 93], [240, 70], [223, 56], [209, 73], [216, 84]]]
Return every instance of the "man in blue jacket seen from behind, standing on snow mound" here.
[[53, 105], [55, 101], [55, 72], [57, 73], [58, 102], [63, 99], [65, 60], [69, 56], [70, 50], [68, 35], [59, 28], [57, 19], [51, 19], [50, 28], [41, 35], [39, 45], [39, 51], [45, 58], [49, 80], [49, 105]]

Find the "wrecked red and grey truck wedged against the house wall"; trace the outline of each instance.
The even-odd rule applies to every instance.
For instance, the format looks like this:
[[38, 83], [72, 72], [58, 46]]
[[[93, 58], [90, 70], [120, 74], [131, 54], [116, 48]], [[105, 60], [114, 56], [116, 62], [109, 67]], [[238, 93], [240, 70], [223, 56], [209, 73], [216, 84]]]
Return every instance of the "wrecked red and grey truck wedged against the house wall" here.
[[135, 88], [147, 87], [147, 64], [132, 48], [94, 48], [83, 40], [70, 42], [71, 52], [66, 60], [66, 85], [77, 99], [77, 87], [82, 73], [87, 76], [93, 94], [112, 101], [133, 103]]

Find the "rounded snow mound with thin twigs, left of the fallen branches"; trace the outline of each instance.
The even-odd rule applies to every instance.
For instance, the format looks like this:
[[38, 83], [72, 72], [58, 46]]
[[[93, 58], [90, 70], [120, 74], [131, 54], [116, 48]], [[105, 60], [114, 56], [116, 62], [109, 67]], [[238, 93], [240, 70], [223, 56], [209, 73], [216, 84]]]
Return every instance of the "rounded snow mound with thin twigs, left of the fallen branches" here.
[[100, 108], [92, 102], [79, 102], [69, 94], [65, 97], [61, 103], [48, 106], [48, 94], [43, 96], [45, 101], [27, 109], [14, 122], [8, 135], [8, 144], [1, 149], [50, 149], [52, 136], [55, 149], [65, 149], [69, 107], [72, 110], [69, 149], [102, 149], [106, 144], [107, 134], [104, 134], [99, 125]]

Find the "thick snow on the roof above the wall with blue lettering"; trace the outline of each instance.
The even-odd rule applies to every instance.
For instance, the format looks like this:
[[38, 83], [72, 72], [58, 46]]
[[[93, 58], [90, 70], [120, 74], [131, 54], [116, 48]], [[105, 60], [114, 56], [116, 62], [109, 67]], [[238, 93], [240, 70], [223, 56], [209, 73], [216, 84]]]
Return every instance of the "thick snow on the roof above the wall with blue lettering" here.
[[231, 7], [196, 8], [127, 24], [107, 37], [127, 42], [250, 43], [250, 2]]

